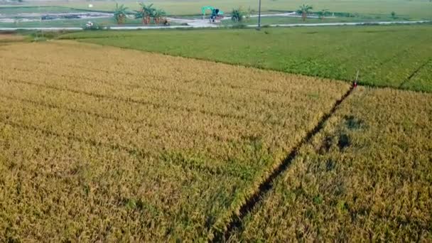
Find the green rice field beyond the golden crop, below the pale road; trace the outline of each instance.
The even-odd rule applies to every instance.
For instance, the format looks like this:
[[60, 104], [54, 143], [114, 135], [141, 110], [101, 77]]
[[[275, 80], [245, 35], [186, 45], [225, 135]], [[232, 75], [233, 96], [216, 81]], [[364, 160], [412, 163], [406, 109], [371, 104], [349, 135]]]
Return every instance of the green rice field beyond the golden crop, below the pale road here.
[[[411, 78], [423, 65], [425, 71], [422, 72], [430, 69], [430, 65], [425, 63], [431, 58], [431, 27], [272, 28], [271, 35], [264, 31], [238, 28], [145, 33], [104, 31], [72, 33], [61, 38], [345, 80], [350, 83], [356, 77], [357, 71], [360, 71], [362, 85], [396, 88], [404, 86], [410, 90], [432, 92], [427, 85], [432, 82], [431, 76], [425, 76], [418, 84], [414, 77]], [[267, 30], [267, 33], [269, 31]], [[216, 42], [213, 41], [215, 39]], [[208, 43], [212, 45], [209, 47]], [[226, 48], [227, 46], [231, 48]]]

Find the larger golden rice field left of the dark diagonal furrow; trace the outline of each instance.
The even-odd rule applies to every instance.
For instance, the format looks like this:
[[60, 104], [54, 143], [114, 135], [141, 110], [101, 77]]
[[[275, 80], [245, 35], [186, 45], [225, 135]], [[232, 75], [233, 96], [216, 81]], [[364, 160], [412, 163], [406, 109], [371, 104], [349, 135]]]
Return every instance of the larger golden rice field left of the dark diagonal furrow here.
[[[0, 46], [0, 68], [0, 242], [212, 239], [350, 88], [345, 82], [58, 41]], [[357, 96], [377, 99], [371, 93]], [[392, 154], [382, 156], [387, 161]], [[357, 171], [336, 168], [362, 182]], [[383, 180], [377, 200], [390, 200], [383, 190], [392, 176], [408, 179], [413, 170], [399, 169], [376, 178]], [[345, 188], [356, 186], [365, 185]], [[423, 196], [431, 189], [418, 190]], [[423, 208], [430, 210], [426, 202]]]

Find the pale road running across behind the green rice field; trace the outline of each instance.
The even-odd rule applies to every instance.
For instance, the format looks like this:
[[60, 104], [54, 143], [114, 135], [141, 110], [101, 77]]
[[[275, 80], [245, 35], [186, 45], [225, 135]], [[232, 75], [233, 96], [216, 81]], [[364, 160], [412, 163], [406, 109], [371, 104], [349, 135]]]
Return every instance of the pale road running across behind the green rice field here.
[[[389, 24], [413, 24], [413, 23], [432, 23], [432, 21], [379, 21], [379, 22], [350, 22], [350, 23], [290, 23], [290, 24], [271, 24], [271, 27], [301, 27], [301, 26], [362, 26], [362, 25], [389, 25]], [[212, 23], [190, 24], [189, 26], [112, 26], [112, 30], [151, 30], [161, 28], [219, 28], [220, 26]], [[247, 25], [249, 28], [256, 28], [257, 25]], [[0, 31], [80, 31], [77, 27], [41, 27], [41, 28], [0, 28]]]

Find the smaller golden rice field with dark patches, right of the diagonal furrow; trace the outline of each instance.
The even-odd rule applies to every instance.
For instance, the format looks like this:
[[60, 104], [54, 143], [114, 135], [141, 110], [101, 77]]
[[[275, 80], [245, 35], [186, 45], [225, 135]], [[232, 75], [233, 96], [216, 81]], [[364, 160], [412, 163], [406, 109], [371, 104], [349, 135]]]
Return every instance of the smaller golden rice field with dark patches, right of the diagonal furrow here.
[[431, 242], [432, 95], [360, 87], [231, 242]]

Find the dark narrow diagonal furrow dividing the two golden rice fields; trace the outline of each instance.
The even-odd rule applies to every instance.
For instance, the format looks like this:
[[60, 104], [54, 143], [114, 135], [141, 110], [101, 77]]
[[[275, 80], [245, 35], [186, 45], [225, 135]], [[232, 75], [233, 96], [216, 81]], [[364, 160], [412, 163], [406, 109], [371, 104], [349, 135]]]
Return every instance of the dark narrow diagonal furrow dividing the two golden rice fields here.
[[328, 119], [333, 116], [336, 110], [340, 107], [340, 104], [342, 104], [342, 102], [347, 99], [347, 97], [349, 97], [354, 90], [355, 87], [354, 85], [352, 85], [350, 89], [335, 102], [332, 109], [330, 109], [330, 111], [325, 114], [320, 119], [320, 121], [318, 121], [318, 124], [311, 131], [308, 131], [306, 136], [296, 146], [293, 147], [291, 152], [288, 153], [288, 156], [286, 156], [283, 161], [281, 161], [279, 166], [276, 167], [274, 171], [272, 171], [270, 175], [259, 185], [258, 190], [253, 195], [251, 195], [249, 199], [240, 207], [239, 215], [235, 213], [232, 214], [231, 220], [225, 227], [225, 232], [215, 232], [215, 237], [212, 239], [212, 242], [225, 242], [227, 241], [227, 239], [229, 239], [235, 229], [239, 229], [240, 227], [242, 227], [242, 221], [244, 217], [250, 212], [253, 212], [254, 208], [258, 205], [258, 203], [263, 200], [264, 196], [267, 193], [269, 193], [269, 191], [274, 186], [276, 178], [279, 178], [288, 169], [294, 158], [298, 156], [300, 148], [310, 142], [311, 139], [313, 139], [313, 136], [318, 134], [318, 132], [323, 129]]

